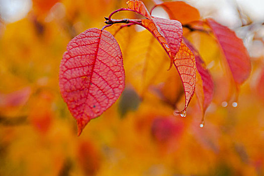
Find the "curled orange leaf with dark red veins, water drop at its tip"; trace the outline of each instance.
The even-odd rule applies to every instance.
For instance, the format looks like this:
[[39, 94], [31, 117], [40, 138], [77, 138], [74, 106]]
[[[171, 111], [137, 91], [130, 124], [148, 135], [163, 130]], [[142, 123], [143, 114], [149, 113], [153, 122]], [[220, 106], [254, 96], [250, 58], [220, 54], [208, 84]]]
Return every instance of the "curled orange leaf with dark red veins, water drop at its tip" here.
[[195, 56], [192, 51], [184, 44], [174, 58], [174, 66], [177, 68], [182, 79], [185, 91], [185, 108], [181, 112], [176, 112], [182, 116], [186, 116], [186, 109], [195, 92], [196, 81], [196, 63]]

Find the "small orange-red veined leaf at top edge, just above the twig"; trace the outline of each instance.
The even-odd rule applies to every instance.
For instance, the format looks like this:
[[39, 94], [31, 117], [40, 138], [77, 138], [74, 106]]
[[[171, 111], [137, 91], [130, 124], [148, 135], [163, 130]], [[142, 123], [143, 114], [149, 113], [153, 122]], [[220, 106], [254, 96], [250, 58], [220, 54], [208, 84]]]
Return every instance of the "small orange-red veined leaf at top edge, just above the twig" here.
[[144, 17], [146, 17], [148, 19], [152, 18], [143, 2], [141, 2], [141, 1], [128, 1], [127, 4], [128, 4], [128, 9], [131, 9], [134, 12], [137, 12], [137, 13], [143, 15]]

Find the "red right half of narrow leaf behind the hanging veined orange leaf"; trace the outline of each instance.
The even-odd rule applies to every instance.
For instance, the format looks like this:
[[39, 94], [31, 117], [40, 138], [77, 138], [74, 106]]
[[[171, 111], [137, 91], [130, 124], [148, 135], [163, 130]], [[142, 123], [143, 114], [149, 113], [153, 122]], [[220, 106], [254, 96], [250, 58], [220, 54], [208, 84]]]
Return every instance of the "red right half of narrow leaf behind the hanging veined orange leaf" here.
[[[198, 51], [193, 47], [193, 45], [187, 39], [185, 39], [184, 41], [195, 55], [196, 67], [202, 78], [203, 97], [204, 97], [202, 106], [203, 106], [203, 111], [205, 112], [205, 110], [207, 109], [207, 107], [209, 106], [209, 104], [213, 99], [213, 90], [214, 90], [213, 79], [209, 71], [206, 69], [206, 65], [202, 60]], [[196, 92], [197, 92], [197, 87], [196, 87]]]

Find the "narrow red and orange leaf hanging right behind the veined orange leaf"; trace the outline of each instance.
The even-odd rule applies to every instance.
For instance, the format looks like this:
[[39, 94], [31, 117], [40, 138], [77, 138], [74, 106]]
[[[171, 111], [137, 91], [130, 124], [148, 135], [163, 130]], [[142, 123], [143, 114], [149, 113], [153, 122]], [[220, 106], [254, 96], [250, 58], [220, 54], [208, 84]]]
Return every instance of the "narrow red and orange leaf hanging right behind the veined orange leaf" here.
[[[201, 104], [202, 111], [204, 113], [213, 99], [213, 90], [214, 90], [213, 79], [209, 71], [206, 69], [206, 65], [202, 60], [198, 51], [193, 47], [193, 45], [187, 39], [185, 39], [184, 41], [195, 55], [196, 67], [198, 73], [200, 74], [200, 76], [198, 76], [196, 79], [195, 92], [197, 94], [197, 97]], [[199, 85], [201, 85], [201, 89]]]

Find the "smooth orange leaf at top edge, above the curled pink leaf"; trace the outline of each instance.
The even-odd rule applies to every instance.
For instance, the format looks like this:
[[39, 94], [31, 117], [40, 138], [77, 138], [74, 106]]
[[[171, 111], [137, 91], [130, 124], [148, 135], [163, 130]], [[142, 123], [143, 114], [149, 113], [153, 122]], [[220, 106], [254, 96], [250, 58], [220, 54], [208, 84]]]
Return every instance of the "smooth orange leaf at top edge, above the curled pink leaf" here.
[[182, 1], [164, 2], [159, 4], [168, 13], [171, 20], [187, 24], [200, 19], [199, 11]]

